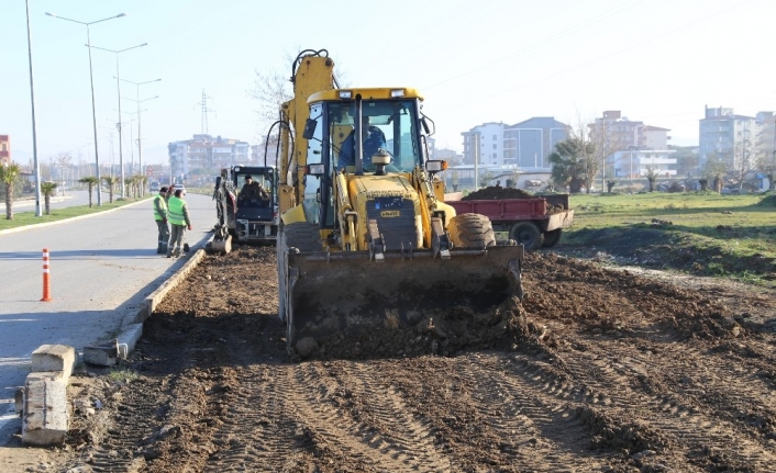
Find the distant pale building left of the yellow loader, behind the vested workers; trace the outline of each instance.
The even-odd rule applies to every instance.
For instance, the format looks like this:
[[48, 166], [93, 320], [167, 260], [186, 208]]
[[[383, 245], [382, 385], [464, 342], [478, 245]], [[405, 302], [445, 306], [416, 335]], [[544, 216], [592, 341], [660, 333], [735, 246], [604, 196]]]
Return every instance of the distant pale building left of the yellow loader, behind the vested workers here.
[[248, 144], [221, 136], [193, 135], [193, 139], [174, 142], [168, 146], [173, 176], [187, 176], [193, 171], [218, 174], [221, 168], [247, 165]]

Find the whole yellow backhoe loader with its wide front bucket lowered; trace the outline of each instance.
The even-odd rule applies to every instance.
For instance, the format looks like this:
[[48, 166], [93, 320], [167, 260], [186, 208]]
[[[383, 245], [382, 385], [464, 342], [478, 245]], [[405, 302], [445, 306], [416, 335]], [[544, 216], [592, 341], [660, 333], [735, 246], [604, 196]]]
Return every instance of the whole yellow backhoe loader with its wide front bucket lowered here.
[[[523, 247], [444, 203], [433, 122], [411, 88], [340, 88], [325, 49], [293, 63], [281, 105], [279, 314], [289, 351], [425, 309], [522, 297]], [[308, 342], [309, 344], [309, 342]]]

